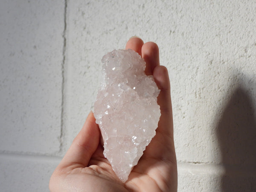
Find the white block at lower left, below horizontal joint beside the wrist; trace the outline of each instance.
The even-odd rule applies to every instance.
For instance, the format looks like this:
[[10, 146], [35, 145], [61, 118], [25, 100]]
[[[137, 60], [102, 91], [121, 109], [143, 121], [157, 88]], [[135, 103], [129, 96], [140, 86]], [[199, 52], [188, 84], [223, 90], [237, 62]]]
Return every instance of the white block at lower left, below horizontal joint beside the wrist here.
[[46, 156], [0, 155], [0, 191], [49, 191], [49, 180], [59, 158]]

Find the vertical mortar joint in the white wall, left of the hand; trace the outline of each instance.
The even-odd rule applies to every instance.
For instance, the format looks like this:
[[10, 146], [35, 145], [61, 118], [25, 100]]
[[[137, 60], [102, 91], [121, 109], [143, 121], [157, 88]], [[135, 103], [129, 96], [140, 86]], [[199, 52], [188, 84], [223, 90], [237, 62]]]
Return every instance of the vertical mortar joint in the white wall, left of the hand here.
[[63, 147], [63, 126], [64, 126], [64, 90], [65, 90], [65, 61], [66, 61], [66, 44], [67, 44], [67, 39], [66, 39], [66, 31], [67, 31], [67, 0], [64, 1], [64, 29], [63, 29], [63, 49], [62, 49], [62, 62], [61, 62], [61, 77], [62, 77], [62, 82], [61, 82], [61, 130], [60, 130], [60, 136], [59, 136], [59, 151], [58, 153], [61, 154], [62, 152], [62, 147]]

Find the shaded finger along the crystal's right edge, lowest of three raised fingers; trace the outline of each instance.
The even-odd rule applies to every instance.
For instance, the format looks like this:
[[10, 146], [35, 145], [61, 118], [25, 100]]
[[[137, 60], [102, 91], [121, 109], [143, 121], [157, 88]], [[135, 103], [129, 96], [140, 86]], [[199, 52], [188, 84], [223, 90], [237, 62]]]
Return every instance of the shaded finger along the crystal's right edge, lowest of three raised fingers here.
[[160, 105], [161, 116], [157, 131], [168, 134], [173, 138], [172, 100], [168, 70], [166, 67], [159, 65], [154, 68], [153, 76], [160, 89], [157, 103]]

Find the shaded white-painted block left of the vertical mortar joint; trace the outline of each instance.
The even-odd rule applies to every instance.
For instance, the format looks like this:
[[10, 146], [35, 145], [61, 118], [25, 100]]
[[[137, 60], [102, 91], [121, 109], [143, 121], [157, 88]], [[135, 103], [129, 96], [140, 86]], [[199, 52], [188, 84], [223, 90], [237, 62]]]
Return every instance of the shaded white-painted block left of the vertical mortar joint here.
[[54, 154], [61, 133], [64, 1], [0, 3], [0, 151]]

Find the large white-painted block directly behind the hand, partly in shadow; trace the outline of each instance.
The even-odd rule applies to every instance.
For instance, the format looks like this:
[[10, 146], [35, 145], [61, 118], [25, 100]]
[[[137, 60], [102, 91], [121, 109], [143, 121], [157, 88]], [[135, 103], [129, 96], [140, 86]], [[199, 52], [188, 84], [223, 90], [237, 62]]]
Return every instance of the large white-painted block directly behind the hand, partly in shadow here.
[[[245, 162], [253, 162], [256, 5], [240, 2], [239, 6], [238, 2], [68, 3], [70, 71], [64, 151], [93, 108], [102, 56], [124, 48], [128, 38], [138, 35], [145, 42], [156, 41], [160, 62], [169, 70], [177, 159], [224, 163], [236, 156], [236, 162], [229, 163], [243, 163], [243, 150], [236, 151], [235, 146], [246, 141], [243, 147], [250, 157]], [[243, 115], [237, 118], [239, 113]], [[247, 119], [245, 131], [243, 118]]]

